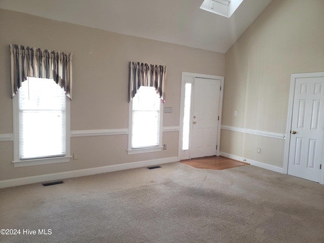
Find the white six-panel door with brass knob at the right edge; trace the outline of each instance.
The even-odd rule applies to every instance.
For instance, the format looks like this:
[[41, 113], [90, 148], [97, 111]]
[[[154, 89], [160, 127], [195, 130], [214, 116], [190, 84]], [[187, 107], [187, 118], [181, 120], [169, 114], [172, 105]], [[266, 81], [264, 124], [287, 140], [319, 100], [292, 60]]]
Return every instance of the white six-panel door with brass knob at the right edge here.
[[324, 77], [296, 78], [288, 174], [319, 182], [324, 134]]

